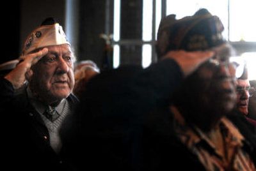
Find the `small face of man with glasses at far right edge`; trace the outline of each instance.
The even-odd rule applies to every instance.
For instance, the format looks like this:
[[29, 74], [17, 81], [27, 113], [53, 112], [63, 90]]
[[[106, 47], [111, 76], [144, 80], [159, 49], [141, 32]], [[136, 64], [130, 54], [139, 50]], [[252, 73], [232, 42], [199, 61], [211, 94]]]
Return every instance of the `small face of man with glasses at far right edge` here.
[[248, 114], [249, 89], [249, 80], [237, 80], [237, 109], [244, 115]]

